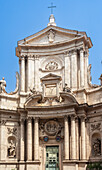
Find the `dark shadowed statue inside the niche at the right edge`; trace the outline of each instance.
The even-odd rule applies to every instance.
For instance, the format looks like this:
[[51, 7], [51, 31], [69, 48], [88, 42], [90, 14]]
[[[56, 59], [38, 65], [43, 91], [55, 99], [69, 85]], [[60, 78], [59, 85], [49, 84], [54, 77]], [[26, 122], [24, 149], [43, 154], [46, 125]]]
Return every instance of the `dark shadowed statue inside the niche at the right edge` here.
[[93, 142], [93, 155], [100, 156], [101, 155], [101, 140], [95, 139]]

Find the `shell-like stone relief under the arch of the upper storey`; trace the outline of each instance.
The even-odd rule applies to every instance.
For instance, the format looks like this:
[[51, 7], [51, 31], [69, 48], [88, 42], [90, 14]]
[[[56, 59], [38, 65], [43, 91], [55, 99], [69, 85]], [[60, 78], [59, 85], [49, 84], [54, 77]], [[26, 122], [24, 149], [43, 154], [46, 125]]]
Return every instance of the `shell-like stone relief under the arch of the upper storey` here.
[[53, 71], [58, 69], [58, 64], [55, 61], [50, 61], [46, 66], [45, 70]]

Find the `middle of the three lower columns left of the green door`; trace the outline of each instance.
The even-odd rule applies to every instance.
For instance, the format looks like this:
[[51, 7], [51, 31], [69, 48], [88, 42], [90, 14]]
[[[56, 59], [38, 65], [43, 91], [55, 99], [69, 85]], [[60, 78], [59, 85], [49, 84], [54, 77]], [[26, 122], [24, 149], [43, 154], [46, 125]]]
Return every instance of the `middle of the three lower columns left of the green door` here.
[[27, 160], [32, 161], [32, 118], [27, 119]]

